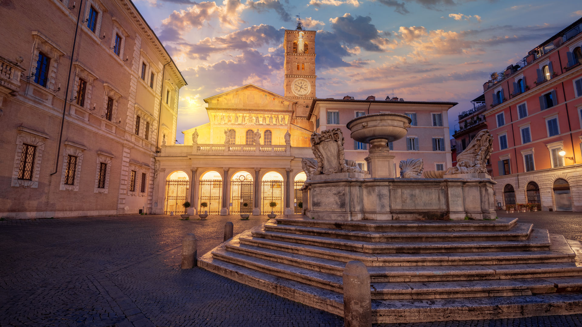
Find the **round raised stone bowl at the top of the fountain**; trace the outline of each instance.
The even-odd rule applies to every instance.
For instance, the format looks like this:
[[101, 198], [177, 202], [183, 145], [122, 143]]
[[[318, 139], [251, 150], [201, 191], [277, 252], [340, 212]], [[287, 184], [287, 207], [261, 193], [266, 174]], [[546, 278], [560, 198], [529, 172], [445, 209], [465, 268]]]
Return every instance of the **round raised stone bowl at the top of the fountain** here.
[[393, 142], [406, 136], [411, 122], [409, 116], [402, 113], [372, 113], [350, 120], [347, 128], [352, 131], [352, 138], [361, 143], [378, 138]]

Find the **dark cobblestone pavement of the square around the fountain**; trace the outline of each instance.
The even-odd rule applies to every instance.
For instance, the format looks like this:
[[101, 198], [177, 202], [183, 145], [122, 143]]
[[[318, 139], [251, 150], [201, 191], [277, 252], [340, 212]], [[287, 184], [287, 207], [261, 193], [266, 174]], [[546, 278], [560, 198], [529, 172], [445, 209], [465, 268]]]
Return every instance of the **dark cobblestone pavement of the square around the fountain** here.
[[[498, 216], [508, 215], [498, 212]], [[516, 215], [516, 214], [509, 214]], [[520, 214], [521, 221], [582, 238], [580, 214]], [[527, 215], [527, 218], [526, 218]], [[136, 215], [0, 222], [0, 326], [343, 326], [343, 319], [201, 268], [180, 269], [180, 243], [198, 256], [265, 216]], [[570, 227], [569, 227], [570, 226]], [[559, 232], [562, 233], [562, 232]], [[582, 326], [582, 315], [378, 324], [379, 326]]]

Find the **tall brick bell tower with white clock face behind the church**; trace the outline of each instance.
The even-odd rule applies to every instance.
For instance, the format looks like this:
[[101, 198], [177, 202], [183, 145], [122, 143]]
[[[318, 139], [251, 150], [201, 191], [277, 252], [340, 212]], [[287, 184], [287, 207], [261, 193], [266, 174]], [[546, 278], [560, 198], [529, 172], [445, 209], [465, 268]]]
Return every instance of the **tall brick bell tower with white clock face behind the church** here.
[[285, 30], [283, 91], [286, 98], [297, 101], [297, 119], [307, 117], [311, 100], [315, 98], [315, 33], [304, 31], [301, 22], [296, 30]]

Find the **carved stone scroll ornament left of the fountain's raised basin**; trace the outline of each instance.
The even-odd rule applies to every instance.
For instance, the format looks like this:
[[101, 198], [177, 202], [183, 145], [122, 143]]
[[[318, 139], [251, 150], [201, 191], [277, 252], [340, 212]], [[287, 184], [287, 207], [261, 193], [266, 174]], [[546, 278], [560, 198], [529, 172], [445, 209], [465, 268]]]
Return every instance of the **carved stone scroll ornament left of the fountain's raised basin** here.
[[317, 160], [317, 169], [313, 173], [310, 172], [310, 175], [361, 173], [356, 162], [346, 161], [343, 142], [342, 130], [340, 129], [324, 130], [321, 134], [311, 134], [311, 150]]

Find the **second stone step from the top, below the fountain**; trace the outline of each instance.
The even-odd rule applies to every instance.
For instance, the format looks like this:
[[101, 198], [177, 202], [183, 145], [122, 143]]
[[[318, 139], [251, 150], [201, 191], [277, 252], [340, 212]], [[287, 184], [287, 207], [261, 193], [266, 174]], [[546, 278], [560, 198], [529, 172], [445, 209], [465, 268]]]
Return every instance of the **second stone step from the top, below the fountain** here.
[[324, 236], [334, 239], [360, 240], [371, 242], [424, 242], [424, 241], [487, 241], [487, 240], [526, 240], [533, 225], [517, 223], [510, 230], [487, 231], [367, 231], [367, 230], [342, 230], [335, 228], [318, 228], [311, 226], [281, 225], [274, 222], [265, 223], [265, 231], [280, 232], [299, 235]]

